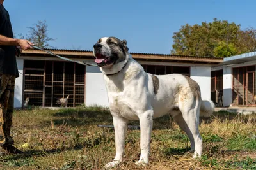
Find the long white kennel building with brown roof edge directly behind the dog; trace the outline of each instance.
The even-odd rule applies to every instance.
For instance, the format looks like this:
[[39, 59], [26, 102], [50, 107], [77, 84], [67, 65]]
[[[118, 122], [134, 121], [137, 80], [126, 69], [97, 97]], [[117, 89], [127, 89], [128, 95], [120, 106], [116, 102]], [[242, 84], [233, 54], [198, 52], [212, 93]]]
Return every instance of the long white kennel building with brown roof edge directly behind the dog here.
[[[74, 60], [93, 62], [92, 51], [51, 50]], [[131, 53], [145, 71], [152, 74], [181, 73], [198, 82], [203, 99], [211, 98], [211, 67], [223, 59], [151, 53]], [[19, 78], [15, 83], [15, 108], [27, 97], [35, 106], [55, 107], [56, 100], [67, 97], [68, 107], [108, 106], [103, 74], [99, 67], [66, 62], [40, 50], [27, 50], [17, 57]]]

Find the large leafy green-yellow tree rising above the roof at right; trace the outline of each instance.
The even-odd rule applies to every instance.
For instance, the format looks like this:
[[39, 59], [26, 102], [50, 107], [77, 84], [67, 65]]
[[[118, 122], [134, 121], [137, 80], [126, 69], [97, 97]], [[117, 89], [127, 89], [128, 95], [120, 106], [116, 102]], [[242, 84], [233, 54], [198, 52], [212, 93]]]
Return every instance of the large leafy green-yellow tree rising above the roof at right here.
[[[186, 24], [173, 34], [172, 54], [228, 57], [256, 50], [256, 30], [227, 20]], [[250, 39], [248, 41], [248, 39]]]

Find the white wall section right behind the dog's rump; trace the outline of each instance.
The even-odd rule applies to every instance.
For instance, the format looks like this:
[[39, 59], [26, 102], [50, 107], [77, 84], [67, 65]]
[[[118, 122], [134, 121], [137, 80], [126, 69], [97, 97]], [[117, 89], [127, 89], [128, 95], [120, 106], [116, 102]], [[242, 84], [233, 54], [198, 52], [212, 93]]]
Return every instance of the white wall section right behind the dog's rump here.
[[211, 67], [190, 67], [190, 78], [199, 84], [202, 99], [211, 99]]

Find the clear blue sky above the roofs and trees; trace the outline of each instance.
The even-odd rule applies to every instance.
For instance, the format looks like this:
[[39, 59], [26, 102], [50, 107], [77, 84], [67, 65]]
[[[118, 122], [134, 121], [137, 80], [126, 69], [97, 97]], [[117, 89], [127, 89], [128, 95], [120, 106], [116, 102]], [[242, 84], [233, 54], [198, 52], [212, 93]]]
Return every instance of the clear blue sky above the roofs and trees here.
[[256, 1], [172, 0], [5, 0], [13, 32], [46, 20], [51, 45], [60, 49], [92, 50], [102, 36], [127, 40], [130, 52], [170, 53], [173, 32], [182, 25], [211, 22], [213, 18], [256, 27]]

